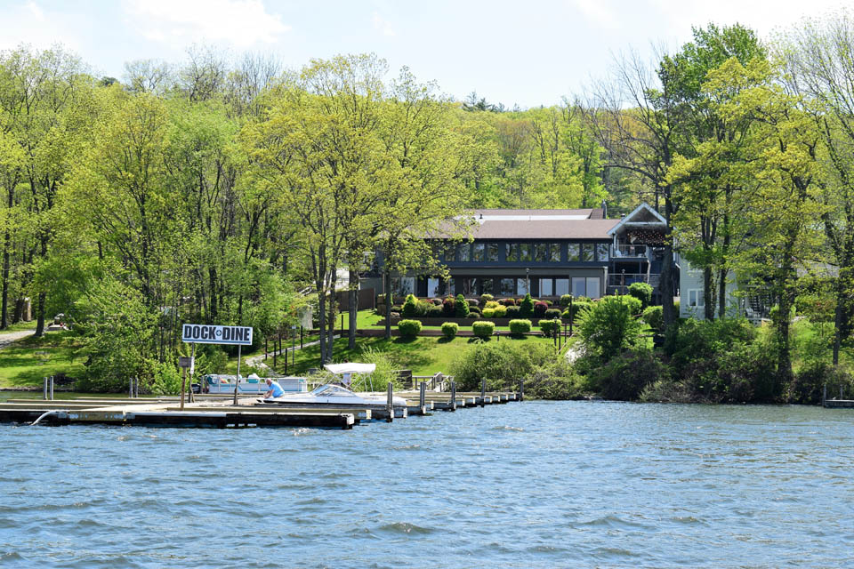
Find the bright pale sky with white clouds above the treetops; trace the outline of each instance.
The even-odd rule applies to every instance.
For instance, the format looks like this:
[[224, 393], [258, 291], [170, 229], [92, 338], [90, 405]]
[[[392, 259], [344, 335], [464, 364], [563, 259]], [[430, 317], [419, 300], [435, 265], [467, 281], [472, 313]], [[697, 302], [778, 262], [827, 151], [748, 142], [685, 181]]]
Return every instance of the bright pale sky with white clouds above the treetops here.
[[[464, 100], [550, 106], [607, 75], [614, 58], [675, 50], [691, 26], [741, 23], [767, 38], [839, 0], [0, 0], [0, 50], [62, 44], [97, 76], [132, 60], [180, 64], [193, 44], [271, 53], [288, 68], [375, 52], [391, 75]], [[809, 14], [805, 13], [809, 10]]]

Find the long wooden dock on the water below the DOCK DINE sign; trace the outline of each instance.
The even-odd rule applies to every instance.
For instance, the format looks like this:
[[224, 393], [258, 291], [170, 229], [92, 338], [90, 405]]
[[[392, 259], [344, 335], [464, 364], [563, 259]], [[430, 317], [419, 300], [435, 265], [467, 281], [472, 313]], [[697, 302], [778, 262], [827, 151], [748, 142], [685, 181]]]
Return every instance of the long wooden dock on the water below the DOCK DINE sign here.
[[[44, 425], [114, 425], [242, 429], [247, 427], [320, 427], [352, 429], [361, 421], [393, 421], [434, 411], [456, 411], [520, 400], [513, 392], [463, 393], [404, 391], [393, 394], [406, 406], [391, 405], [264, 405], [257, 397], [196, 396], [181, 409], [178, 397], [105, 398], [68, 400], [9, 399], [0, 402], [0, 422]], [[390, 413], [391, 411], [391, 413]]]

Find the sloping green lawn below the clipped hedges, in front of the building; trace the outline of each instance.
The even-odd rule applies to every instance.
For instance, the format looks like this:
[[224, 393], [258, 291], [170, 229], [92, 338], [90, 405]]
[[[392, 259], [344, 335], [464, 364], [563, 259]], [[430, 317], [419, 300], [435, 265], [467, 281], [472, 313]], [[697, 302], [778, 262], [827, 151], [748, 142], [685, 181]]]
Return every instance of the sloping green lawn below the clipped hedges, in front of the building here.
[[[552, 339], [543, 338], [542, 336], [523, 336], [520, 339], [510, 337], [502, 337], [501, 340], [492, 338], [489, 341], [514, 341], [514, 342], [547, 342], [552, 343]], [[412, 370], [414, 375], [432, 375], [437, 372], [449, 373], [451, 363], [458, 358], [465, 350], [471, 349], [475, 345], [473, 338], [457, 337], [451, 341], [437, 336], [419, 336], [412, 340], [402, 338], [392, 338], [391, 341], [384, 338], [357, 338], [356, 349], [347, 349], [347, 339], [341, 338], [335, 341], [334, 344], [334, 361], [343, 362], [360, 361], [361, 352], [363, 349], [372, 348], [382, 350], [389, 354], [391, 359], [400, 366], [401, 369]], [[296, 351], [296, 365], [287, 366], [288, 374], [303, 374], [310, 367], [319, 367], [320, 349], [318, 346], [311, 346], [306, 349]], [[267, 365], [272, 366], [272, 359], [267, 359]], [[278, 373], [285, 372], [285, 366], [281, 358], [278, 360]]]

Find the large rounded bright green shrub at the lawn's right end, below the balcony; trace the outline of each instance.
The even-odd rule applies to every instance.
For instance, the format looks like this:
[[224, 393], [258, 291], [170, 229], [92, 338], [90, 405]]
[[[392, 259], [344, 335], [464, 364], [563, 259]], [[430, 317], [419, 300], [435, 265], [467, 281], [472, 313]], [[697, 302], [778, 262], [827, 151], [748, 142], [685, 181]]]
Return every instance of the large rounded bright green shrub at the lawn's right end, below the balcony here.
[[[632, 298], [640, 306], [641, 301]], [[621, 349], [634, 346], [641, 333], [641, 322], [632, 317], [629, 303], [620, 296], [607, 296], [584, 310], [577, 329], [588, 353], [610, 360]]]

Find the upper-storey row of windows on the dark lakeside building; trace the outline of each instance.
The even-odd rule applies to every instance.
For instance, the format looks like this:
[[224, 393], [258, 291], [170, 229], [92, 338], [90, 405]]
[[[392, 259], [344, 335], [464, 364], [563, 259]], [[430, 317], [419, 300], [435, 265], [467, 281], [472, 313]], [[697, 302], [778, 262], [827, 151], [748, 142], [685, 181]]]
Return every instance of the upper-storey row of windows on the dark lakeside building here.
[[444, 260], [457, 262], [535, 262], [608, 260], [607, 243], [568, 243], [566, 259], [560, 243], [463, 243], [450, 247]]

